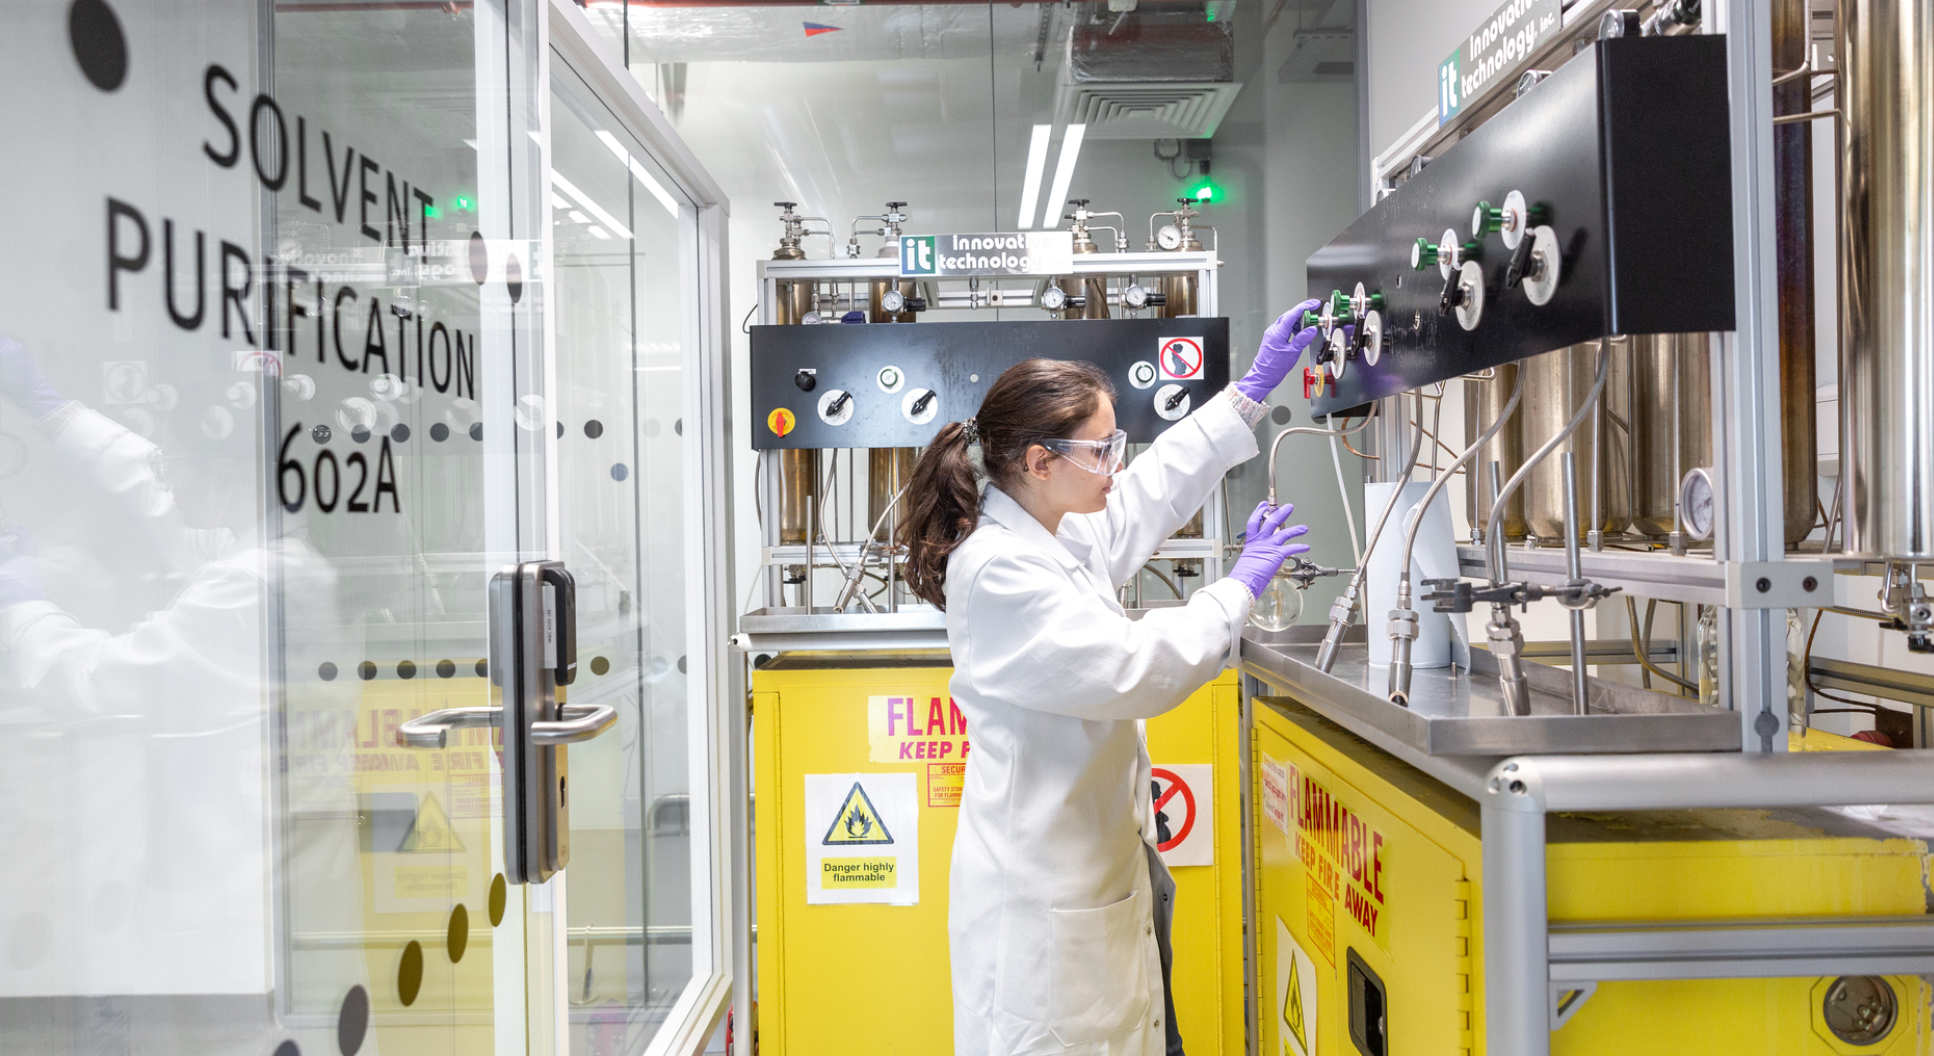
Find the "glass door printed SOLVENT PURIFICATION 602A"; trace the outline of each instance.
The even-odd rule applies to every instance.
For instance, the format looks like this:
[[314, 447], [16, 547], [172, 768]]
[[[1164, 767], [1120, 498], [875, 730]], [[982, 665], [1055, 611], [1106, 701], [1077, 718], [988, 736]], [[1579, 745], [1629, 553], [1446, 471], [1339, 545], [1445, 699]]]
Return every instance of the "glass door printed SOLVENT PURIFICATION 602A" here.
[[545, 17], [0, 12], [0, 1052], [555, 1050]]

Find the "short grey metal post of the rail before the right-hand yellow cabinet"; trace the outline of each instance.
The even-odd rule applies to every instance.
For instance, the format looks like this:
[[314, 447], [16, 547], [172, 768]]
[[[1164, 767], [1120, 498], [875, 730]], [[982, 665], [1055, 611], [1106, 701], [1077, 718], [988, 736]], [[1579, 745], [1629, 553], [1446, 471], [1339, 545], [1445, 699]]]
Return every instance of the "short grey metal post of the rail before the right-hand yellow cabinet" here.
[[1483, 1013], [1491, 1056], [1551, 1054], [1545, 803], [1538, 776], [1507, 760], [1481, 807]]

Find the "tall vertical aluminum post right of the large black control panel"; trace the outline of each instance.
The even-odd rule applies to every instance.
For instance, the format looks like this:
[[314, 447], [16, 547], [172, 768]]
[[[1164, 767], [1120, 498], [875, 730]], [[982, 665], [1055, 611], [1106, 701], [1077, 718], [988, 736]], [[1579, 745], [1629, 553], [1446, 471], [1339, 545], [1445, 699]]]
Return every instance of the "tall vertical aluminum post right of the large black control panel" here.
[[[1779, 269], [1773, 253], [1773, 41], [1770, 0], [1727, 0], [1733, 143], [1735, 331], [1712, 356], [1714, 462], [1719, 466], [1719, 561], [1779, 561], [1785, 507], [1779, 466]], [[1723, 609], [1721, 702], [1739, 712], [1746, 752], [1785, 750], [1787, 642], [1779, 609]]]

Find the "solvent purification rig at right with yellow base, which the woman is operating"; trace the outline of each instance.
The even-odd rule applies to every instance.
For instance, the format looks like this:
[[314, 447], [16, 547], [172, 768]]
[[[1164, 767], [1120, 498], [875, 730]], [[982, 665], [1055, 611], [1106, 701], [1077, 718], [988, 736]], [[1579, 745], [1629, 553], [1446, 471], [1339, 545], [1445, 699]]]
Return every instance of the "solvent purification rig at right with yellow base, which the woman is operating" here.
[[1253, 1050], [1934, 1052], [1934, 681], [1814, 652], [1934, 648], [1934, 4], [1514, 17], [1307, 261], [1309, 410], [1416, 484], [1327, 623], [1244, 640]]

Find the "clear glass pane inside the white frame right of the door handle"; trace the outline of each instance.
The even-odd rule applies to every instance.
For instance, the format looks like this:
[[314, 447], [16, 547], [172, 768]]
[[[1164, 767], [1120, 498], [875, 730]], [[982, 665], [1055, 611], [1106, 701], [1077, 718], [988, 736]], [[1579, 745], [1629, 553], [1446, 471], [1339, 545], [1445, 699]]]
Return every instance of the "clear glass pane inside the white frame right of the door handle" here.
[[[584, 81], [553, 56], [551, 238], [559, 532], [578, 582], [572, 702], [613, 704], [572, 750], [571, 1050], [638, 1052], [710, 950], [694, 919], [685, 489], [696, 213]], [[696, 851], [694, 851], [696, 847]], [[700, 866], [694, 872], [694, 866]], [[696, 878], [696, 884], [694, 884]]]

